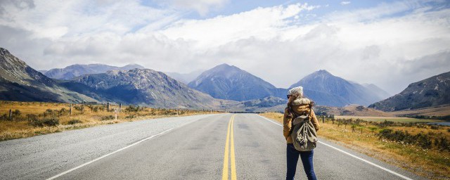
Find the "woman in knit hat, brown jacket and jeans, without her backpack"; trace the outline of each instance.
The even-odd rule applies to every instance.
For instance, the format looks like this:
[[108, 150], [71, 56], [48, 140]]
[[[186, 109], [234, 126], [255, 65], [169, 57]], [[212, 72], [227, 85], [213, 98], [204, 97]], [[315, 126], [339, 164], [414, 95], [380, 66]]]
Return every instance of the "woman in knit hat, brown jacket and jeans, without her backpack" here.
[[[303, 87], [298, 86], [290, 89], [288, 92], [288, 107], [285, 108], [283, 117], [283, 135], [285, 136], [286, 143], [288, 143], [286, 148], [286, 160], [287, 160], [287, 172], [286, 180], [292, 180], [295, 176], [295, 170], [297, 169], [298, 158], [302, 159], [302, 164], [304, 172], [307, 174], [309, 180], [316, 179], [316, 174], [314, 174], [314, 168], [312, 164], [312, 158], [314, 155], [314, 150], [310, 151], [299, 151], [296, 150], [293, 145], [293, 139], [290, 134], [293, 128], [292, 121], [297, 117], [297, 115], [309, 115], [309, 120], [311, 120], [314, 129], [319, 131], [319, 121], [317, 120], [314, 111], [312, 110], [312, 101], [303, 96]], [[311, 112], [309, 112], [311, 111]], [[294, 117], [294, 118], [293, 118]]]

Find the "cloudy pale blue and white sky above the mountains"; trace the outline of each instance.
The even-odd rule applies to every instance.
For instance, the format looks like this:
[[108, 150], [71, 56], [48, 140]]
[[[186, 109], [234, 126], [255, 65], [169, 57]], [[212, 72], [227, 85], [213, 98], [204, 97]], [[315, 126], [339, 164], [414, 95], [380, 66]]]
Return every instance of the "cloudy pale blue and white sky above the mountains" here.
[[397, 94], [450, 71], [449, 1], [1, 0], [0, 47], [32, 68], [221, 63], [287, 88], [316, 70]]

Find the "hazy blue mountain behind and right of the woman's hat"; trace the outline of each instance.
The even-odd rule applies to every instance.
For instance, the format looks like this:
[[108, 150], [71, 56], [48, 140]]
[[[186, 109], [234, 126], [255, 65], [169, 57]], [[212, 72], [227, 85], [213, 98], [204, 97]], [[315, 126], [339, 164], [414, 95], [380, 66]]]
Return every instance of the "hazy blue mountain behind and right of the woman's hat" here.
[[307, 75], [290, 88], [295, 86], [303, 86], [305, 96], [318, 105], [337, 107], [349, 104], [370, 105], [383, 99], [375, 93], [376, 90], [336, 77], [326, 70]]

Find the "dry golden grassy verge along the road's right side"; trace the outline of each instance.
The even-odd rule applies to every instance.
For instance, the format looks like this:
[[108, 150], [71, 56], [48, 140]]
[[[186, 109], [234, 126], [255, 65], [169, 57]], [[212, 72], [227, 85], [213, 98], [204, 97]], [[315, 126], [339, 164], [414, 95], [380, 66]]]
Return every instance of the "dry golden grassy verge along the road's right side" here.
[[[281, 113], [262, 115], [283, 122]], [[450, 127], [326, 119], [325, 123], [321, 123], [318, 134], [419, 176], [450, 179], [450, 152], [440, 148], [442, 139], [446, 139], [444, 143], [448, 142]], [[443, 146], [449, 148], [448, 143]]]

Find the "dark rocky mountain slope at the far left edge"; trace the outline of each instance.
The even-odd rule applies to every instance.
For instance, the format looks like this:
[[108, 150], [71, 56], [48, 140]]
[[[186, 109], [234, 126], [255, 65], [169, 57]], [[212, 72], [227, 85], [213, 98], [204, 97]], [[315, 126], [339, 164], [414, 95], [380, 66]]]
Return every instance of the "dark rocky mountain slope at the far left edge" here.
[[0, 48], [0, 99], [6, 101], [98, 102], [59, 86], [23, 60]]

